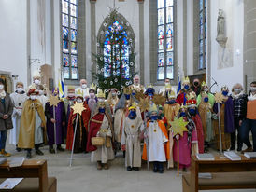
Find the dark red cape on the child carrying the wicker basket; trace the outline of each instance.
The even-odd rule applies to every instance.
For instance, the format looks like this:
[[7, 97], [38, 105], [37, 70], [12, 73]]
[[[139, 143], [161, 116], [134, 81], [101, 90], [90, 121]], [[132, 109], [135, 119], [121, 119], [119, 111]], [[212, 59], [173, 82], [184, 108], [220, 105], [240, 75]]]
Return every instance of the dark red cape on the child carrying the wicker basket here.
[[[89, 134], [88, 134], [88, 139], [86, 144], [86, 151], [88, 152], [97, 150], [97, 147], [92, 145], [92, 137], [95, 137], [97, 135], [97, 132], [100, 130], [101, 124], [102, 124], [100, 122], [103, 121], [103, 118], [104, 118], [104, 114], [98, 113], [95, 116], [93, 116], [90, 121], [90, 129], [89, 129]], [[93, 120], [99, 121], [99, 122], [95, 122]]]

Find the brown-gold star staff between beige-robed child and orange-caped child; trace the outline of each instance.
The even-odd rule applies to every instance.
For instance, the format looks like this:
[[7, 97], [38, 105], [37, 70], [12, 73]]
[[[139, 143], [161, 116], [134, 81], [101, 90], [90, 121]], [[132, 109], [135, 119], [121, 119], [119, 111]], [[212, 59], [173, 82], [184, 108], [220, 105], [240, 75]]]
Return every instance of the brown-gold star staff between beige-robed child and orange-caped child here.
[[[149, 98], [146, 97], [144, 99], [140, 99], [140, 102], [138, 104], [140, 111], [144, 112], [144, 132], [146, 133], [146, 135], [149, 135], [149, 129], [147, 129], [147, 120], [146, 120], [146, 112], [149, 111], [149, 107], [150, 107], [150, 103], [149, 103]], [[145, 142], [146, 142], [146, 149], [147, 149], [147, 168], [149, 171], [149, 137], [145, 138]]]

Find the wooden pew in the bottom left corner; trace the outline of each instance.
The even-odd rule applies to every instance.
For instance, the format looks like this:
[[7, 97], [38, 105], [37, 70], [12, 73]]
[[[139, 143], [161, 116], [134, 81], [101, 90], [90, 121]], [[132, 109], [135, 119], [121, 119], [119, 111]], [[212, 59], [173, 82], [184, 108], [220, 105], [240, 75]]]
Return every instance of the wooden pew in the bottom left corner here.
[[3, 190], [5, 192], [57, 191], [57, 179], [48, 177], [46, 160], [25, 160], [21, 167], [14, 168], [9, 168], [8, 162], [6, 162], [0, 165], [0, 182], [2, 183], [6, 178], [24, 179], [13, 190]]

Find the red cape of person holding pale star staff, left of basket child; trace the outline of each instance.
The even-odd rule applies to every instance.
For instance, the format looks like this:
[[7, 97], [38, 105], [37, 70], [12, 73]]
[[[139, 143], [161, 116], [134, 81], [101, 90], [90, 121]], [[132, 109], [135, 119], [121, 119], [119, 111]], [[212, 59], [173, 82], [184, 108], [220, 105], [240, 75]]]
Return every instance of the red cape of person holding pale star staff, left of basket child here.
[[[81, 116], [83, 120], [83, 125], [86, 131], [88, 132], [88, 123], [91, 117], [91, 111], [89, 106], [85, 102], [83, 103], [83, 106], [85, 110], [82, 112]], [[68, 118], [67, 132], [66, 132], [66, 149], [68, 150], [72, 150], [73, 137], [74, 137], [73, 122], [75, 121], [76, 117], [77, 117], [77, 114], [74, 114], [74, 110], [71, 108], [70, 115]]]

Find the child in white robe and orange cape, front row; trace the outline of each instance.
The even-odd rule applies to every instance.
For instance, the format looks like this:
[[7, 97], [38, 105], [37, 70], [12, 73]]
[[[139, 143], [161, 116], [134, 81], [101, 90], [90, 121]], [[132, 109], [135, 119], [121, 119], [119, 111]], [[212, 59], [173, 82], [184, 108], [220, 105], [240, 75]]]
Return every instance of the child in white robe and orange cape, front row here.
[[[168, 160], [169, 143], [168, 133], [163, 120], [158, 120], [158, 110], [154, 103], [149, 108], [150, 121], [147, 124], [147, 131], [144, 137], [149, 137], [149, 146], [144, 144], [143, 160], [149, 160], [153, 163], [153, 172], [164, 172], [164, 162]], [[149, 150], [147, 157], [147, 150]]]

